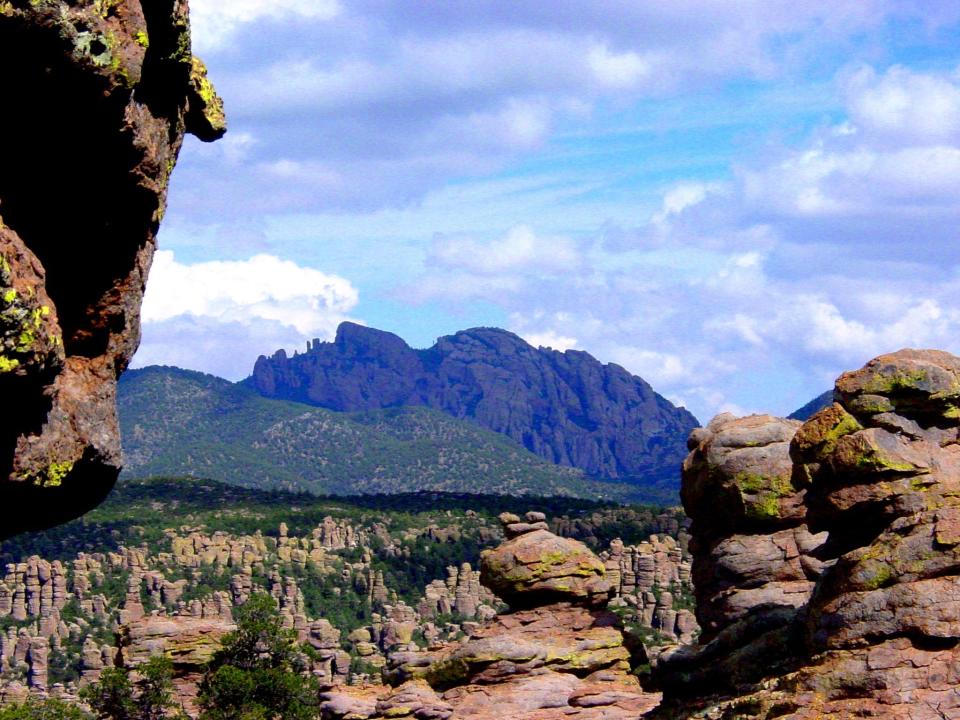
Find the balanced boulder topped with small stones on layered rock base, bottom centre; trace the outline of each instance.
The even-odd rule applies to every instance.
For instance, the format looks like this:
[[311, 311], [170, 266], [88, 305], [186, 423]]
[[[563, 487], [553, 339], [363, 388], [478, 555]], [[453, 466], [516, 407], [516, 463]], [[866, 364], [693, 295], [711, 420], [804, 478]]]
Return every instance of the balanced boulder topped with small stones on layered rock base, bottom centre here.
[[630, 673], [616, 616], [602, 609], [611, 590], [603, 562], [553, 535], [542, 513], [500, 519], [507, 541], [483, 553], [480, 577], [510, 611], [458, 643], [393, 655], [393, 689], [331, 690], [324, 718], [625, 720], [657, 703]]

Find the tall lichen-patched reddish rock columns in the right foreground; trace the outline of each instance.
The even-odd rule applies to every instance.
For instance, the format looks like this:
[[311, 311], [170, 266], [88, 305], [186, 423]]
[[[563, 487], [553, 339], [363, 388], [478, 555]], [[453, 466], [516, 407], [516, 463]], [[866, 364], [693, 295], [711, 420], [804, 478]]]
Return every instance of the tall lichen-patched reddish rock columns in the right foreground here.
[[692, 436], [704, 643], [651, 718], [960, 717], [960, 358], [884, 355], [834, 400]]

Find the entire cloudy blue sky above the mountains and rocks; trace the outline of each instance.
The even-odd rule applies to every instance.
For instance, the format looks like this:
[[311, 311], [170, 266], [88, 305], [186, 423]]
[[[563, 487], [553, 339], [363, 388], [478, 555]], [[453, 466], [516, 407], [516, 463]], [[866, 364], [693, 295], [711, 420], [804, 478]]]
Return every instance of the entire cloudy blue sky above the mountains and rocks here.
[[960, 3], [191, 0], [134, 366], [496, 326], [701, 421], [960, 354]]

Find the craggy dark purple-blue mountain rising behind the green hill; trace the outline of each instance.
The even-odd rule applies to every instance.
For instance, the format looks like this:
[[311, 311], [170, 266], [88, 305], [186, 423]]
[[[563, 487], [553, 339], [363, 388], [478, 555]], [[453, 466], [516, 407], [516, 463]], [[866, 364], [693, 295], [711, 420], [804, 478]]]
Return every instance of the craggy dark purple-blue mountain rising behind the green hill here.
[[245, 383], [265, 397], [338, 411], [424, 406], [502, 433], [596, 477], [677, 482], [697, 419], [618, 365], [475, 328], [414, 350], [343, 323], [332, 343], [261, 356]]

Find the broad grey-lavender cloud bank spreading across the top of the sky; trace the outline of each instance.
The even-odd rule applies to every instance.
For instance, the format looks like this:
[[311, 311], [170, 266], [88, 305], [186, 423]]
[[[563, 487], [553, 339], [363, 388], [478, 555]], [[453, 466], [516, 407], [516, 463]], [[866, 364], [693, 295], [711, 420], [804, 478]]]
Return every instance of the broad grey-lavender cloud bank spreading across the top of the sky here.
[[[254, 166], [246, 179], [213, 155], [190, 173], [208, 202], [175, 199], [207, 214], [404, 206], [608, 105], [802, 70], [821, 47], [918, 15], [885, 0], [192, 5], [231, 132], [257, 139], [234, 148]], [[944, 13], [919, 14], [935, 26]], [[883, 104], [869, 87], [867, 75], [850, 79], [864, 118]], [[299, 163], [302, 182], [265, 192], [283, 162]]]

